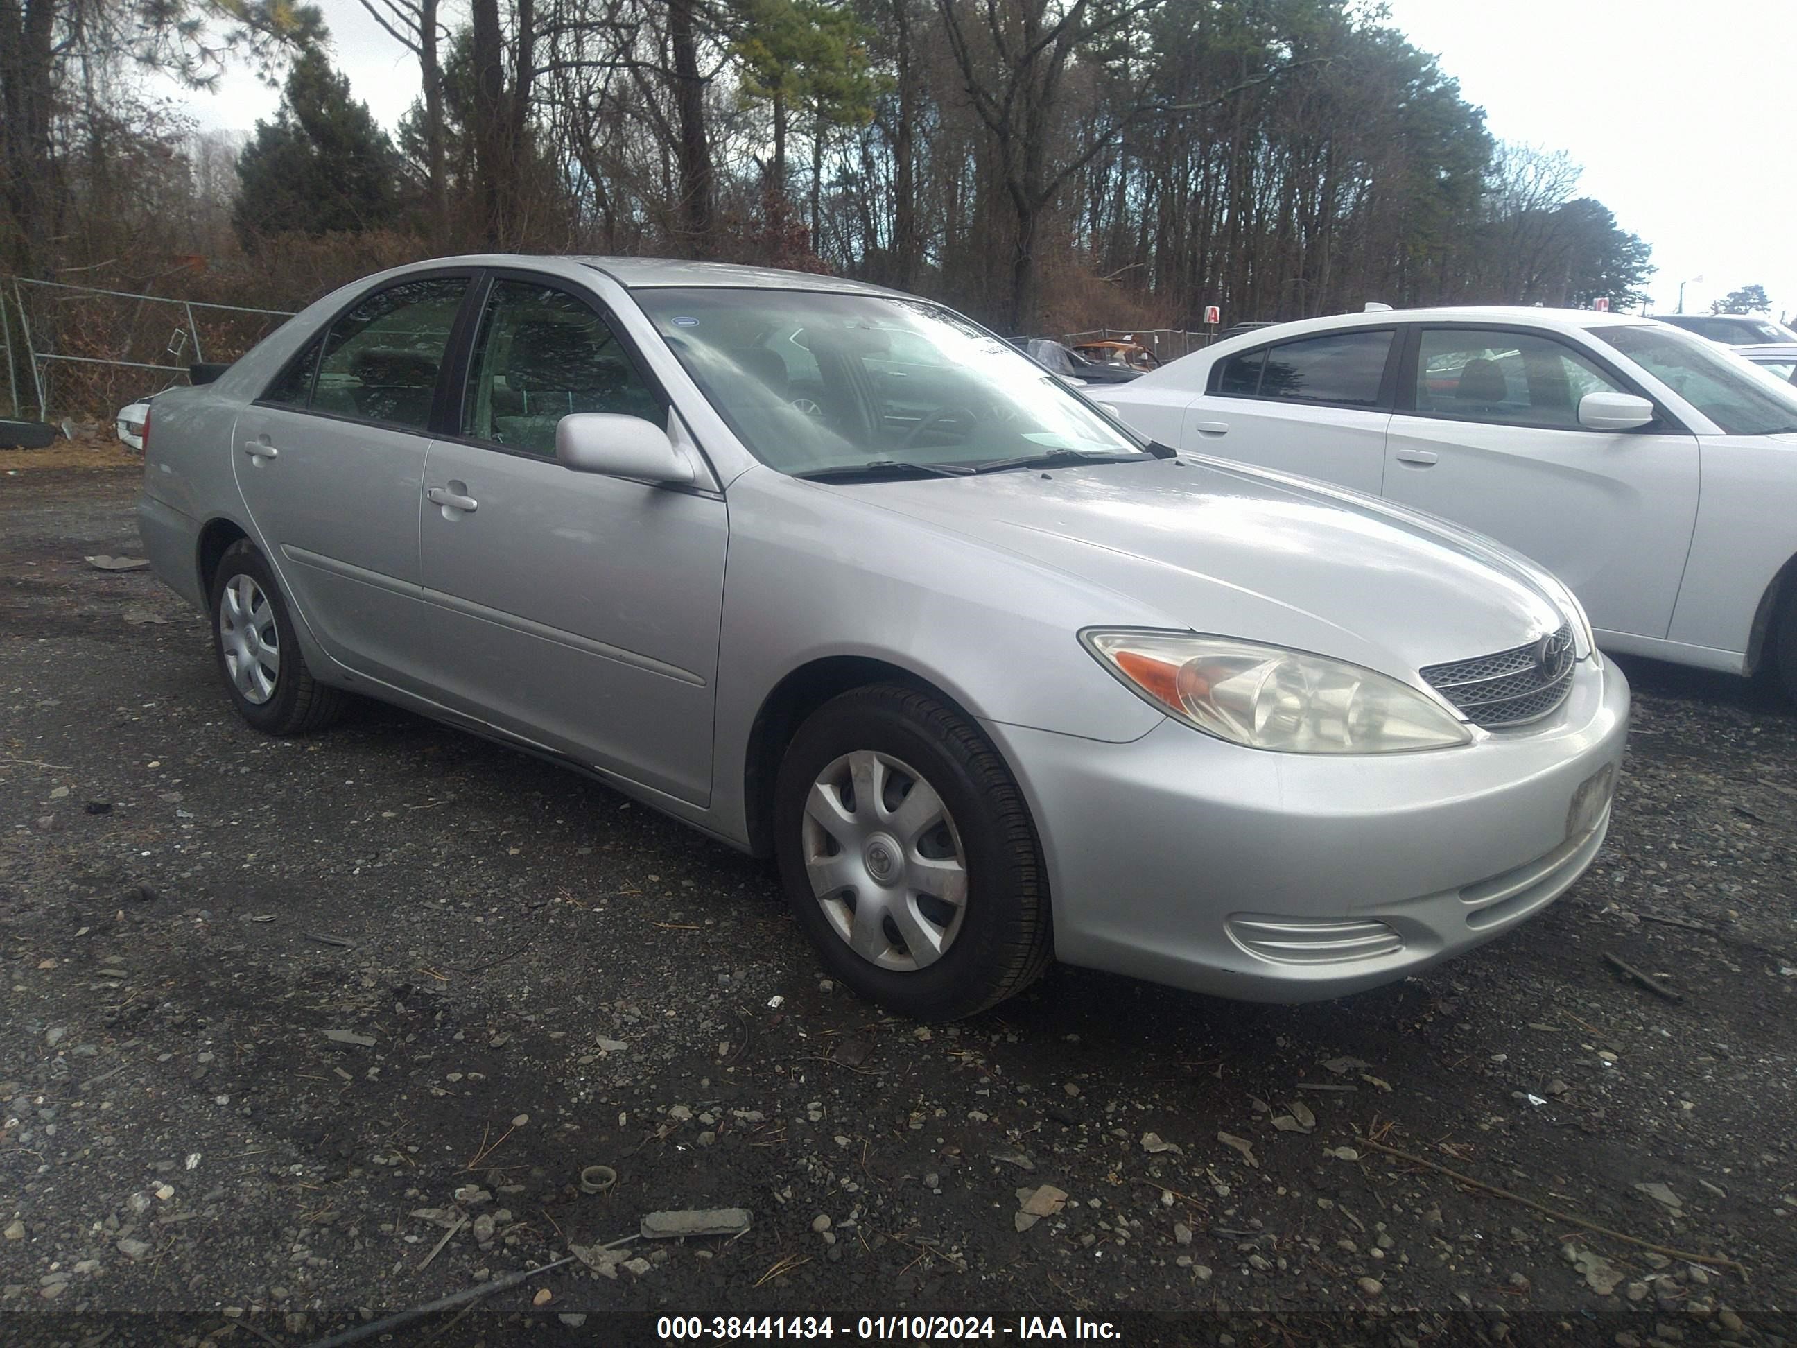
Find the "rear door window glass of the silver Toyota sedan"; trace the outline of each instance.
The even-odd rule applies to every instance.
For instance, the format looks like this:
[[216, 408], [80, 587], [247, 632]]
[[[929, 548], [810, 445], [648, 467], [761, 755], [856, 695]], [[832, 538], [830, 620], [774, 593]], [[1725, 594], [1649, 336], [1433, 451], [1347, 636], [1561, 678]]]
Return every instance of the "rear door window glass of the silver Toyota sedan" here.
[[437, 370], [465, 277], [406, 280], [358, 304], [331, 325], [313, 410], [429, 430]]

